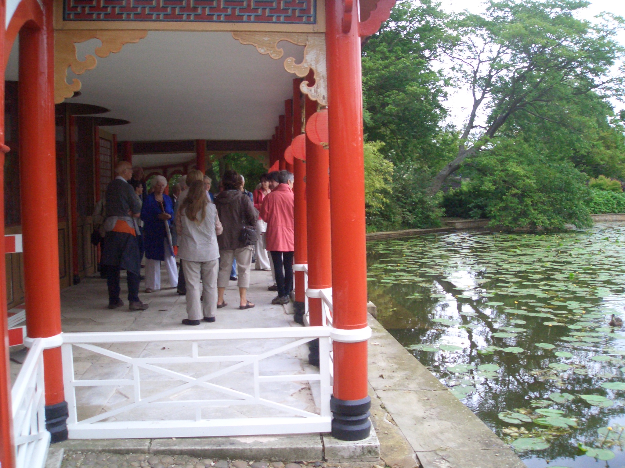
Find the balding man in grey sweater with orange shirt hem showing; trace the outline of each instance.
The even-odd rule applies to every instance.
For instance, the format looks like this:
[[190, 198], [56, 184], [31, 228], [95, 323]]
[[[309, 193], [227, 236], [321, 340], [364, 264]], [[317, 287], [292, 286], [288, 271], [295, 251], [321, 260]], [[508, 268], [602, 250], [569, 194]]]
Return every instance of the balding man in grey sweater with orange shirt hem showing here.
[[133, 167], [129, 162], [121, 161], [115, 167], [115, 175], [115, 180], [106, 188], [106, 243], [102, 251], [102, 264], [107, 266], [109, 309], [124, 305], [119, 298], [119, 271], [126, 270], [129, 310], [146, 310], [148, 305], [139, 300], [141, 257], [137, 220], [141, 214], [141, 201], [128, 183], [133, 177]]

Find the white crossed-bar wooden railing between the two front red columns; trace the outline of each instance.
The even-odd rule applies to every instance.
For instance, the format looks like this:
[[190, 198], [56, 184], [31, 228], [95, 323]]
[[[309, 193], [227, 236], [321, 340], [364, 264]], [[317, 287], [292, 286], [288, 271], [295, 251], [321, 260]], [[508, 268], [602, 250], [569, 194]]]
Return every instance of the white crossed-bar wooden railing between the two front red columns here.
[[[328, 432], [332, 392], [330, 333], [327, 326], [64, 333], [63, 373], [69, 437], [118, 439]], [[301, 353], [297, 351], [299, 346], [316, 338], [319, 338], [319, 373], [291, 373], [277, 363], [285, 355], [292, 359], [292, 353]], [[277, 343], [272, 344], [274, 341]], [[119, 349], [96, 344], [110, 344]], [[169, 355], [171, 351], [159, 353], [168, 346], [176, 350], [176, 356]], [[128, 351], [132, 348], [138, 356], [128, 356], [133, 354]], [[262, 352], [246, 352], [257, 348]], [[84, 378], [88, 373], [76, 378], [75, 358], [83, 368], [86, 363], [97, 365], [98, 374], [108, 373], [112, 378]], [[108, 365], [110, 370], [106, 371]], [[317, 412], [290, 396], [285, 402], [284, 392], [277, 391], [289, 382], [301, 381], [309, 382], [311, 389], [319, 383]], [[94, 387], [99, 389], [90, 393]], [[107, 388], [111, 391], [104, 392]], [[280, 398], [282, 401], [276, 401]], [[83, 405], [99, 410], [96, 414], [92, 411], [81, 415], [83, 419], [79, 420], [78, 407]], [[202, 409], [206, 408], [211, 411], [203, 417]], [[153, 409], [158, 412], [150, 419]], [[185, 413], [187, 417], [181, 419]]]

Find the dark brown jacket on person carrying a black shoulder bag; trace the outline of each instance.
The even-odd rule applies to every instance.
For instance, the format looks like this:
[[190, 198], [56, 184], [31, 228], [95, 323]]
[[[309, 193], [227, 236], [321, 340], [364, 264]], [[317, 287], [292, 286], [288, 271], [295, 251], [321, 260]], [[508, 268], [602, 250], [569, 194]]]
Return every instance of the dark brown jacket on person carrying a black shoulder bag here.
[[236, 250], [244, 245], [239, 241], [244, 225], [256, 226], [258, 210], [252, 200], [240, 190], [224, 190], [215, 197], [215, 206], [224, 232], [217, 236], [219, 250]]

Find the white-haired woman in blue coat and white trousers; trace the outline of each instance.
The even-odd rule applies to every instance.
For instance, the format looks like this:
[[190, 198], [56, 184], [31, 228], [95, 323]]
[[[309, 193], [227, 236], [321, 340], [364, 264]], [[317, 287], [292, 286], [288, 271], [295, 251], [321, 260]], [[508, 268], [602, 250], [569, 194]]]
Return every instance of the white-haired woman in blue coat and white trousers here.
[[[154, 192], [146, 197], [141, 208], [143, 220], [143, 243], [146, 249], [146, 293], [161, 289], [161, 261], [165, 262], [169, 276], [169, 287], [178, 286], [176, 257], [171, 245], [174, 220], [174, 203], [165, 195], [167, 179], [156, 175], [153, 179]], [[169, 227], [169, 230], [168, 228]]]

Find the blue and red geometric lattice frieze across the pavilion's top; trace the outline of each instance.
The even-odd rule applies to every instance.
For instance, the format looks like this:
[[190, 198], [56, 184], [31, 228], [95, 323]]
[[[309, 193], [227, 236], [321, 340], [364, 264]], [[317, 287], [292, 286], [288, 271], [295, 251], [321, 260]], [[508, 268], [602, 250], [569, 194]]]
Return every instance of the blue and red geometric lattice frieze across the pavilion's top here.
[[63, 19], [315, 24], [316, 0], [64, 0]]

